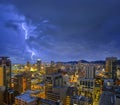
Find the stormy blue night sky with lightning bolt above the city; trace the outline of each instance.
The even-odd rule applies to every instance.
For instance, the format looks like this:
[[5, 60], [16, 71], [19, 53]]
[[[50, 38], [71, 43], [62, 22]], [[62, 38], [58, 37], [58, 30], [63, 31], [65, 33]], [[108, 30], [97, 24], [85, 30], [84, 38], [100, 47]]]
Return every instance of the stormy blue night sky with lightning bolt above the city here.
[[0, 0], [0, 56], [16, 63], [120, 58], [120, 0]]

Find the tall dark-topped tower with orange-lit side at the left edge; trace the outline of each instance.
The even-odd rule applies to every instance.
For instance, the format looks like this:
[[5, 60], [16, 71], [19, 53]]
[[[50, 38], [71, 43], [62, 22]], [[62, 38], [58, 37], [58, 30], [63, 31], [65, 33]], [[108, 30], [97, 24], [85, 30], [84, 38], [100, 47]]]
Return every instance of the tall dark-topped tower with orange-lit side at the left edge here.
[[0, 57], [0, 86], [11, 87], [11, 61], [8, 57]]

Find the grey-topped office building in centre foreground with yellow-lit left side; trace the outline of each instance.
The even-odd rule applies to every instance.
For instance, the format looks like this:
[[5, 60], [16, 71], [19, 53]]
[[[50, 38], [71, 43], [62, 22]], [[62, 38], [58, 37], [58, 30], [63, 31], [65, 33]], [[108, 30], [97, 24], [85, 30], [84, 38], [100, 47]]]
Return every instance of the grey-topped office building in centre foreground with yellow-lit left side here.
[[62, 81], [61, 74], [46, 75], [45, 94], [47, 99], [52, 101], [60, 100], [60, 91], [55, 88], [61, 88]]

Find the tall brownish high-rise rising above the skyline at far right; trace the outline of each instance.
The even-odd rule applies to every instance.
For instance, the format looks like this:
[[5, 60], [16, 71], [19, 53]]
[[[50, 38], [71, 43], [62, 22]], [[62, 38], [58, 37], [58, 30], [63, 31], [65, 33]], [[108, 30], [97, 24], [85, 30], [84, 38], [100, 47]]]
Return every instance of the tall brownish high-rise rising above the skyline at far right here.
[[117, 57], [107, 57], [106, 58], [106, 73], [108, 73], [108, 77], [115, 79], [116, 71], [117, 71]]

